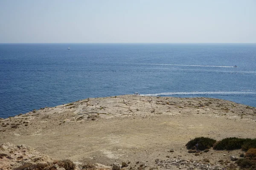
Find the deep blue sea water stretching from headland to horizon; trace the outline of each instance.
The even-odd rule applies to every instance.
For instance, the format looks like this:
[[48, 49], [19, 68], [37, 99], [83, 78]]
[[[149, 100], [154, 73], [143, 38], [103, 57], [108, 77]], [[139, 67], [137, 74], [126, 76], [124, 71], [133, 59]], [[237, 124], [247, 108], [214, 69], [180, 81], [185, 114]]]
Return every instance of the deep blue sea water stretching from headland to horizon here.
[[256, 44], [0, 44], [0, 117], [134, 92], [256, 107]]

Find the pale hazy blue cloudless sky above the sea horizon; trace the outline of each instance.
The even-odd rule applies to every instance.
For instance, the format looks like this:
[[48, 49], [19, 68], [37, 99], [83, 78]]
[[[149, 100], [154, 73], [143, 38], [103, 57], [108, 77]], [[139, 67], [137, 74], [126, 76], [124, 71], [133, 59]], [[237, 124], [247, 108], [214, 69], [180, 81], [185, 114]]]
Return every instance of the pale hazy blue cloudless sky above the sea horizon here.
[[256, 0], [0, 0], [0, 43], [256, 43]]

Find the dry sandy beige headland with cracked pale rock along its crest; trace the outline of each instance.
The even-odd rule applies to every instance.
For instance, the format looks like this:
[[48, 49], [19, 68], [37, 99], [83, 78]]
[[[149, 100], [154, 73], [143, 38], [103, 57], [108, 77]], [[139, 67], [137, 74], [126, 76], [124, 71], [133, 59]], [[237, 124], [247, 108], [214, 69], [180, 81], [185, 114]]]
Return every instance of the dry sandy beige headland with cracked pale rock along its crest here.
[[140, 161], [151, 168], [166, 156], [217, 164], [242, 153], [210, 150], [195, 156], [185, 146], [195, 137], [256, 138], [256, 108], [221, 99], [125, 95], [33, 112], [0, 120], [0, 144], [26, 144], [52, 159], [131, 161], [131, 167]]

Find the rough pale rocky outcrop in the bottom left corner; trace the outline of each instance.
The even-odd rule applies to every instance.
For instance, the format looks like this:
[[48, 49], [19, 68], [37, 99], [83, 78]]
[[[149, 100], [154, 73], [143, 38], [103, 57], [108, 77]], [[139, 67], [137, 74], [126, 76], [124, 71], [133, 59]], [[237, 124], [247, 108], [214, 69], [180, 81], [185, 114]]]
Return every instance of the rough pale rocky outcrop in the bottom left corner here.
[[[114, 164], [115, 165], [115, 164]], [[119, 169], [118, 169], [119, 167]], [[116, 170], [121, 165], [116, 163]], [[32, 147], [4, 143], [0, 145], [0, 170], [111, 170], [102, 164], [74, 163], [69, 159], [52, 160]]]

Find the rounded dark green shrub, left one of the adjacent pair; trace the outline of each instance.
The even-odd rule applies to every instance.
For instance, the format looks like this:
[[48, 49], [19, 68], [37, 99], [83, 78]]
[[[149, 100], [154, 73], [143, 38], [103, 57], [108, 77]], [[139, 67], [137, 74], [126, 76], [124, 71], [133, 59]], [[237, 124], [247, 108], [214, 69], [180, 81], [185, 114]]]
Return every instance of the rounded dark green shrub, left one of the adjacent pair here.
[[189, 141], [186, 144], [186, 147], [187, 149], [192, 149], [193, 147], [195, 147], [196, 144], [198, 144], [198, 147], [197, 147], [198, 150], [205, 150], [205, 149], [211, 148], [215, 142], [216, 142], [215, 139], [211, 139], [207, 137], [197, 137]]

